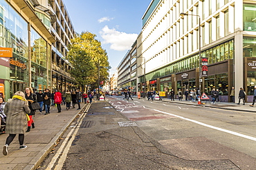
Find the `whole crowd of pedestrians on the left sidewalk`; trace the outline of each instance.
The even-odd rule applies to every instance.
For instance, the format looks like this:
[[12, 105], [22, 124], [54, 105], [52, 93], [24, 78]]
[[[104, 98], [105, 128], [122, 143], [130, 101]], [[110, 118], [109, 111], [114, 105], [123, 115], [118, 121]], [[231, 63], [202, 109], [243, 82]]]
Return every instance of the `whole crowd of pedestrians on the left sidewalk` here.
[[[57, 107], [57, 112], [62, 111], [61, 105], [66, 105], [66, 110], [72, 108], [81, 109], [80, 103], [87, 103], [87, 98], [92, 103], [93, 93], [87, 94], [86, 92], [80, 92], [80, 89], [70, 92], [60, 92], [55, 90], [51, 93], [49, 89], [39, 90], [34, 92], [33, 88], [26, 87], [25, 92], [18, 91], [12, 96], [8, 102], [0, 96], [0, 125], [1, 133], [9, 134], [6, 138], [6, 145], [3, 146], [3, 155], [8, 154], [8, 147], [17, 134], [19, 134], [19, 149], [25, 149], [24, 134], [35, 128], [35, 122], [33, 116], [35, 116], [36, 110], [39, 110], [39, 114], [50, 114], [51, 106]], [[88, 103], [89, 103], [88, 102]]]

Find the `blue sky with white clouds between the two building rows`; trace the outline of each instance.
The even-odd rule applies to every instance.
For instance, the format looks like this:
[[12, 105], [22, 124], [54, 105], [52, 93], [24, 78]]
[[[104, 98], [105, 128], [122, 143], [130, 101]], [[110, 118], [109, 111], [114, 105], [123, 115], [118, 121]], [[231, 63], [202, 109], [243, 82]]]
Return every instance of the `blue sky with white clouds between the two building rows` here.
[[107, 50], [110, 74], [131, 49], [151, 0], [63, 0], [75, 31], [97, 35]]

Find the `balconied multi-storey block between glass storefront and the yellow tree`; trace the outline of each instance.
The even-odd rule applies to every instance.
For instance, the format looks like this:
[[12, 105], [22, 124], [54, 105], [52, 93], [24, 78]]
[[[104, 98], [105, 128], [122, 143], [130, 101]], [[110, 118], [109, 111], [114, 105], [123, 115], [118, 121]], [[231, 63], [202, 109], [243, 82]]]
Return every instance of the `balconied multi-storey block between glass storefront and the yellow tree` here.
[[66, 60], [68, 45], [74, 38], [75, 30], [62, 0], [51, 0], [48, 5], [56, 16], [56, 21], [51, 23], [51, 34], [56, 39], [51, 50], [52, 87], [60, 91], [75, 89], [74, 80], [68, 73], [71, 65]]

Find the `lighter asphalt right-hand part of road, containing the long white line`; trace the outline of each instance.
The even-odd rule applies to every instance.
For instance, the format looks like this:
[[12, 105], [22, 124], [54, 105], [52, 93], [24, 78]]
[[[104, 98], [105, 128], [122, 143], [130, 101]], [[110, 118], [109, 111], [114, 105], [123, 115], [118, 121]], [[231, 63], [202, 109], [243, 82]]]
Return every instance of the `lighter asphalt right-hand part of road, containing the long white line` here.
[[256, 169], [254, 113], [135, 98], [112, 105], [179, 158], [228, 159], [241, 169]]

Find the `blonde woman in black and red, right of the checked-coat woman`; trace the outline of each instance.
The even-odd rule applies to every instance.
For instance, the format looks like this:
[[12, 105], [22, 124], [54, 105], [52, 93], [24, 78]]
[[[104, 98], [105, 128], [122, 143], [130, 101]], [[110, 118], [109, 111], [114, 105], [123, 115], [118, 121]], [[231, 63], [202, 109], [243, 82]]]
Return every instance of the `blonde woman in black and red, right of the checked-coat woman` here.
[[26, 100], [28, 100], [28, 107], [30, 109], [30, 113], [28, 114], [30, 120], [28, 120], [28, 129], [26, 131], [28, 132], [30, 131], [31, 126], [33, 129], [35, 128], [35, 123], [33, 120], [33, 116], [35, 115], [35, 110], [32, 109], [31, 104], [37, 102], [37, 95], [33, 93], [33, 89], [31, 87], [26, 87], [25, 91], [26, 91], [25, 98]]

